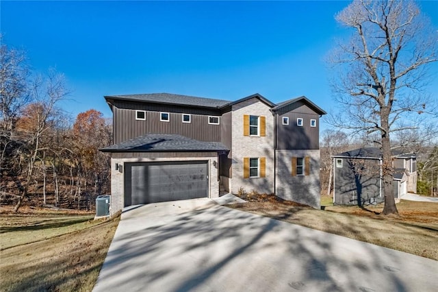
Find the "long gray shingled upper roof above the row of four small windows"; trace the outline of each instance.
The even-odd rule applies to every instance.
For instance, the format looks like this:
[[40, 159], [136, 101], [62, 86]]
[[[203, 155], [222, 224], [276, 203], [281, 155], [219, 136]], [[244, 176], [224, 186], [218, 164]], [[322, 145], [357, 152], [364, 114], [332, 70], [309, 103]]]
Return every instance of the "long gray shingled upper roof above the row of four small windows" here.
[[110, 95], [105, 99], [123, 99], [129, 101], [148, 101], [159, 104], [177, 104], [183, 106], [202, 106], [205, 108], [220, 108], [231, 101], [224, 99], [209, 99], [189, 95], [174, 95], [171, 93], [147, 93], [141, 95]]

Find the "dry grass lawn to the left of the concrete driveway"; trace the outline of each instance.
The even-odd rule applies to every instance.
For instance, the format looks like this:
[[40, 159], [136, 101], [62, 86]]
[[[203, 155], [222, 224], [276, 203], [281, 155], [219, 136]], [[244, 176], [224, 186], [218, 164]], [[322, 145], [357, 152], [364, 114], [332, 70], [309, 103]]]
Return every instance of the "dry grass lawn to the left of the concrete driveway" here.
[[119, 219], [1, 214], [0, 291], [91, 291]]

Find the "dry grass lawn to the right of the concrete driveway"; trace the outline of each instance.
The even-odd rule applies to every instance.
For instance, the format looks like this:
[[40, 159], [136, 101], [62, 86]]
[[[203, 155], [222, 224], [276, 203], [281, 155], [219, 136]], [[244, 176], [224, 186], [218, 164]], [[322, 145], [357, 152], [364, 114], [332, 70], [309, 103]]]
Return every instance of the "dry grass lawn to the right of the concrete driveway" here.
[[[332, 204], [333, 205], [333, 204]], [[308, 206], [267, 198], [264, 202], [229, 205], [281, 221], [321, 230], [350, 239], [438, 260], [438, 204], [404, 201], [397, 204], [400, 216], [380, 215], [383, 206]]]

